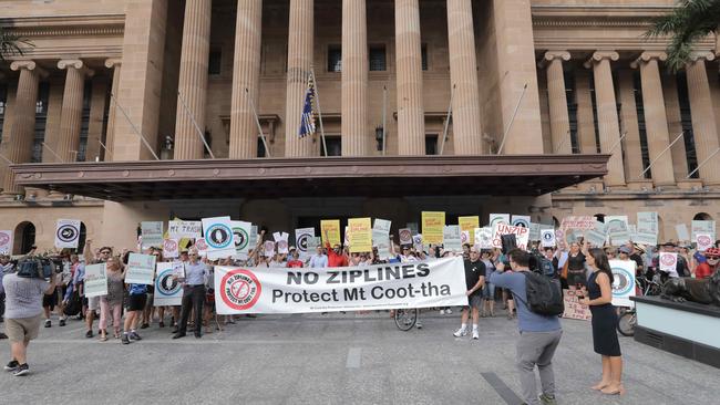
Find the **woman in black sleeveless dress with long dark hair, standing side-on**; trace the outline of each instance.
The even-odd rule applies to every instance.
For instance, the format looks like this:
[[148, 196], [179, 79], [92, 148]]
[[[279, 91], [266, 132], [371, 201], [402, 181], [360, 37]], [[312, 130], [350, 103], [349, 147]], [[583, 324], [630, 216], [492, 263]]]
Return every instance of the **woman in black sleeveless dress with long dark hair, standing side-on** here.
[[583, 288], [585, 298], [580, 303], [589, 305], [593, 313], [593, 345], [603, 356], [603, 380], [593, 386], [603, 394], [623, 395], [623, 357], [617, 339], [617, 314], [613, 308], [613, 271], [603, 249], [589, 249], [585, 245], [585, 260], [593, 273]]

